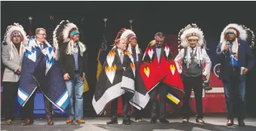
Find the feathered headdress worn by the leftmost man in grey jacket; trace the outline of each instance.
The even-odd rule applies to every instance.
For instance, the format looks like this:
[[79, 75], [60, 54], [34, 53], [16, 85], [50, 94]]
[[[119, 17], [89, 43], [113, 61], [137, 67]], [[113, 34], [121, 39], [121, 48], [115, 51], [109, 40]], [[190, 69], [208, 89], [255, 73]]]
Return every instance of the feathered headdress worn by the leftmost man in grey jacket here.
[[[28, 43], [28, 38], [26, 37], [26, 32], [19, 23], [14, 23], [11, 26], [8, 26], [5, 32], [5, 39], [2, 41], [2, 44], [7, 44], [9, 46], [9, 54], [10, 60], [14, 59], [14, 43], [11, 41], [13, 36], [20, 35], [21, 43], [20, 43], [20, 52], [26, 49], [26, 44]], [[20, 53], [22, 55], [22, 53]], [[22, 56], [21, 56], [22, 57]]]

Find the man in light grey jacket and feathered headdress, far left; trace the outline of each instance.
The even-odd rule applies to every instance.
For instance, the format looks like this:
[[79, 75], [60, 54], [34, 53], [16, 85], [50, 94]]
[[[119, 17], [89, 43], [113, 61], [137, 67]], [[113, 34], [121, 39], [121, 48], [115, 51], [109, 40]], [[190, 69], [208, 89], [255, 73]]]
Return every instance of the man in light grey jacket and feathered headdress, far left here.
[[5, 107], [6, 123], [11, 124], [14, 120], [21, 62], [26, 49], [28, 39], [23, 26], [19, 23], [8, 26], [5, 39], [2, 41], [2, 63], [5, 65], [3, 76], [3, 102]]

